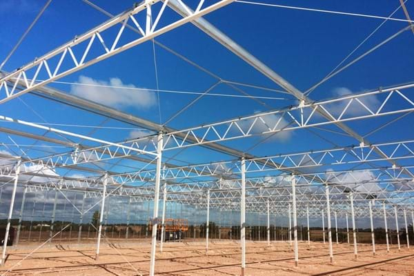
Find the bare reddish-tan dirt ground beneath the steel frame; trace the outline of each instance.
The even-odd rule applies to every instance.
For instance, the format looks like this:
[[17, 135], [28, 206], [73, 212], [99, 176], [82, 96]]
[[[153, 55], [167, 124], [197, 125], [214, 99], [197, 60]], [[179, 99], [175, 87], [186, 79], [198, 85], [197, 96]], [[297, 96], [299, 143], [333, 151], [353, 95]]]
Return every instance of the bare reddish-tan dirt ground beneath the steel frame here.
[[[99, 260], [94, 244], [48, 244], [28, 254], [39, 244], [10, 248], [0, 275], [148, 275], [149, 240], [103, 241]], [[329, 262], [328, 243], [299, 243], [299, 265], [286, 242], [246, 243], [246, 275], [414, 275], [414, 250], [392, 247], [386, 253], [377, 245], [358, 244], [354, 259], [352, 244], [334, 244], [333, 264]], [[240, 250], [237, 241], [213, 240], [206, 255], [204, 241], [168, 242], [157, 252], [157, 275], [240, 275]], [[10, 271], [8, 271], [10, 270]]]

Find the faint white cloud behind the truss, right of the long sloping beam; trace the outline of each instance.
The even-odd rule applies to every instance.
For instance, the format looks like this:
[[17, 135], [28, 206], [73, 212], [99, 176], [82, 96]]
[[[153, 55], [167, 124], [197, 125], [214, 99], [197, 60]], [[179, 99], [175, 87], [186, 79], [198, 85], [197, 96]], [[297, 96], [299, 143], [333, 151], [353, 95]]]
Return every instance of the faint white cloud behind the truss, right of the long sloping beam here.
[[[338, 88], [333, 89], [333, 95], [335, 95], [335, 97], [342, 97], [342, 96], [352, 95], [352, 94], [353, 92], [349, 88], [346, 88], [346, 87], [338, 87]], [[348, 101], [349, 100], [330, 103], [328, 104], [328, 111], [332, 112], [334, 115], [340, 115], [341, 112], [346, 107], [346, 105], [348, 104]], [[364, 105], [371, 110], [373, 109], [375, 110], [375, 108], [380, 107], [380, 101], [377, 99], [375, 95], [359, 97], [359, 101], [364, 103]], [[351, 105], [346, 110], [344, 116], [345, 117], [346, 115], [358, 116], [358, 115], [366, 115], [366, 114], [368, 114], [368, 110], [366, 110], [366, 108], [364, 108], [364, 106], [362, 106], [361, 103], [358, 103], [357, 101], [354, 100], [353, 103], [351, 103]]]

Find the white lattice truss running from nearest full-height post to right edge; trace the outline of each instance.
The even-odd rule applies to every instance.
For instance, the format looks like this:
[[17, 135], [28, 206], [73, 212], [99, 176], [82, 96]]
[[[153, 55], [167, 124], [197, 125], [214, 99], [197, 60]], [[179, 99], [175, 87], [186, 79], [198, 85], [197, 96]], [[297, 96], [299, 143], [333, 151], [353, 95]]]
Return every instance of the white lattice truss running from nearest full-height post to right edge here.
[[[414, 94], [410, 88], [413, 87], [414, 83], [410, 83], [404, 86], [347, 95], [327, 101], [315, 103], [304, 103], [302, 101], [297, 106], [282, 110], [260, 112], [246, 117], [170, 132], [165, 135], [166, 143], [164, 144], [164, 150], [411, 112], [414, 110]], [[378, 106], [367, 106], [364, 103], [366, 99], [372, 97], [376, 99], [378, 99], [377, 97], [381, 98], [378, 99], [380, 100]], [[399, 104], [387, 104], [391, 99], [392, 101], [399, 101]], [[357, 108], [358, 112], [351, 112], [355, 108]], [[319, 115], [316, 112], [317, 110], [323, 110], [329, 117], [326, 118]], [[184, 138], [180, 139], [179, 137]], [[195, 139], [197, 143], [190, 143], [189, 137]]]

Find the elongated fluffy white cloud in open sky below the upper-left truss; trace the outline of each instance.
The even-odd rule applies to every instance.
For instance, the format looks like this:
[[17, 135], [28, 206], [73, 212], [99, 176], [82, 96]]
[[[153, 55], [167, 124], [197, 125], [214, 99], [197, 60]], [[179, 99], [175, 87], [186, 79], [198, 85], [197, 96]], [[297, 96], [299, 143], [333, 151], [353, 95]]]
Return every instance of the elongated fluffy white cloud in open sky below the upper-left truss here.
[[[150, 108], [157, 103], [155, 94], [145, 89], [137, 88], [132, 84], [124, 84], [119, 78], [110, 78], [108, 81], [80, 76], [78, 83], [70, 86], [73, 95], [102, 103], [115, 108]], [[132, 89], [128, 89], [132, 88]]]

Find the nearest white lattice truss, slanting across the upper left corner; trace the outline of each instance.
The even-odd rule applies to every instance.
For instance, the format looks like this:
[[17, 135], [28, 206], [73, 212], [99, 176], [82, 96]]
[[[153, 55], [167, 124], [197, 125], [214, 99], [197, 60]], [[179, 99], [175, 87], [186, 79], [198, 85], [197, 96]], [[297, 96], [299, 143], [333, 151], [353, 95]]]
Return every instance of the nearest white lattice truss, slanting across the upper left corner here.
[[[204, 0], [199, 0], [197, 10], [190, 12], [188, 16], [182, 19], [176, 19], [167, 24], [161, 24], [160, 22], [166, 20], [166, 17], [163, 15], [168, 1], [164, 1], [164, 3], [159, 3], [159, 0], [143, 1], [135, 8], [119, 14], [117, 17], [102, 23], [97, 28], [81, 34], [79, 37], [75, 37], [72, 41], [0, 79], [0, 103], [19, 97], [47, 83], [69, 75], [72, 72], [86, 68], [103, 59], [117, 55], [145, 41], [149, 41], [189, 21], [226, 6], [233, 1], [221, 0], [206, 5]], [[159, 8], [159, 12], [152, 14], [152, 10], [155, 10], [153, 6], [157, 3], [160, 5], [157, 7]], [[184, 3], [182, 5], [184, 6]], [[141, 20], [142, 18], [144, 20]], [[128, 36], [125, 34], [125, 26], [128, 22], [140, 32], [140, 34], [134, 32], [135, 37], [133, 39], [128, 39]], [[119, 28], [116, 36], [105, 39], [103, 34], [112, 28]], [[127, 42], [124, 41], [124, 37], [127, 37]], [[82, 47], [86, 48], [82, 50]], [[94, 50], [94, 48], [97, 48], [97, 50]], [[77, 53], [79, 49], [81, 50]], [[97, 55], [96, 52], [103, 52], [103, 54]], [[53, 61], [57, 62], [54, 67], [52, 66]], [[63, 66], [66, 63], [70, 63], [70, 66]], [[44, 79], [39, 79], [41, 76]], [[17, 84], [21, 80], [24, 81], [25, 88], [23, 90], [17, 90]]]

